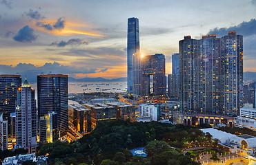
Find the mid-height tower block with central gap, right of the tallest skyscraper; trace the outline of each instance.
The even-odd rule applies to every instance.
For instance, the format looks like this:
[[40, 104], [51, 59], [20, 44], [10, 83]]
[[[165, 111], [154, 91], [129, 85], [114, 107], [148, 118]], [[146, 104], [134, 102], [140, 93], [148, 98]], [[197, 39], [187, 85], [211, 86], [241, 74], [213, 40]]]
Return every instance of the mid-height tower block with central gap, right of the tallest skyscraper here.
[[[150, 90], [151, 89], [151, 90]], [[166, 94], [166, 58], [155, 54], [141, 58], [141, 96]]]

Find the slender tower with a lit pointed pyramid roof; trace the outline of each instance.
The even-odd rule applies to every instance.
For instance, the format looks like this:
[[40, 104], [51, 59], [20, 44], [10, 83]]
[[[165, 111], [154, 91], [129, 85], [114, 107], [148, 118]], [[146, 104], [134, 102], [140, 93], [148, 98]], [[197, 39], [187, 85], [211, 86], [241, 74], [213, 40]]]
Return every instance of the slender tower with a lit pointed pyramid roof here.
[[37, 144], [37, 109], [35, 90], [27, 80], [17, 90], [16, 107], [16, 148], [26, 148], [29, 152], [36, 149]]

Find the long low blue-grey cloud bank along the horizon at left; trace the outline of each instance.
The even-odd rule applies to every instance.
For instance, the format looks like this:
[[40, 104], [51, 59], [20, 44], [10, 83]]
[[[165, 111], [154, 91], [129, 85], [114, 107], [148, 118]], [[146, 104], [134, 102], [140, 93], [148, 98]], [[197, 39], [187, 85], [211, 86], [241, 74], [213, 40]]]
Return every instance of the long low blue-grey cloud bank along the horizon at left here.
[[12, 65], [0, 65], [0, 74], [21, 74], [27, 76], [30, 82], [36, 82], [37, 75], [39, 74], [93, 74], [99, 72], [106, 72], [107, 69], [90, 68], [84, 67], [70, 67], [67, 65], [61, 65], [60, 63], [45, 63], [41, 67], [36, 67], [30, 63], [19, 63], [16, 66]]

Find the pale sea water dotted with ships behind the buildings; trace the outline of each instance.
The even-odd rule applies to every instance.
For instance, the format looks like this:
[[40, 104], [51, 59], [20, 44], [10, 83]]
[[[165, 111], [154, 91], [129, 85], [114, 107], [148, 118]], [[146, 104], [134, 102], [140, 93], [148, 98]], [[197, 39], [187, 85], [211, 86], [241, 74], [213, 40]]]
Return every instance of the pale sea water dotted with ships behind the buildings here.
[[[37, 83], [30, 83], [37, 95]], [[70, 82], [68, 94], [92, 93], [92, 92], [126, 92], [127, 82]]]

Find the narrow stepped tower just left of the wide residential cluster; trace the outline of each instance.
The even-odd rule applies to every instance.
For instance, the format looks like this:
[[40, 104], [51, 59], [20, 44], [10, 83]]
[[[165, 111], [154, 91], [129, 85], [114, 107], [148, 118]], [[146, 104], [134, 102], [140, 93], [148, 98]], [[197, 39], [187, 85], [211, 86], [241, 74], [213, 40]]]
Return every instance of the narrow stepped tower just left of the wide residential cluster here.
[[172, 56], [172, 74], [168, 74], [168, 96], [179, 98], [179, 54]]

